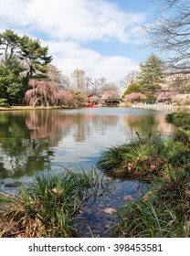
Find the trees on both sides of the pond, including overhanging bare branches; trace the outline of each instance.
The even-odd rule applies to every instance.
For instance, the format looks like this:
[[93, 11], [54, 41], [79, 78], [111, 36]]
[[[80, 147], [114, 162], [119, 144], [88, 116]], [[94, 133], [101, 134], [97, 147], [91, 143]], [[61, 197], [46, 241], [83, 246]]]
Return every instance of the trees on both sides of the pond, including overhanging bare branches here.
[[[140, 71], [128, 73], [121, 84], [123, 97], [142, 93], [154, 101], [159, 93], [190, 93], [190, 2], [149, 0], [157, 5], [153, 25], [145, 27], [153, 54]], [[101, 97], [117, 86], [104, 77], [92, 80], [82, 69], [65, 76], [52, 64], [48, 48], [39, 39], [19, 37], [10, 29], [0, 34], [0, 105], [73, 105], [88, 94]], [[111, 92], [112, 93], [112, 92]], [[140, 94], [139, 94], [140, 95]]]

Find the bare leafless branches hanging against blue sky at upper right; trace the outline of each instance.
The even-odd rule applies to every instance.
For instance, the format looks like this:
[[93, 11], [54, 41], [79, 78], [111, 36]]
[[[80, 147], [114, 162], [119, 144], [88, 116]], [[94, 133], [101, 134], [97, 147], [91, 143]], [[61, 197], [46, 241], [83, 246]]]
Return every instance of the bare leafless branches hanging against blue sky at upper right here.
[[157, 18], [147, 27], [151, 46], [164, 53], [174, 72], [190, 72], [190, 1], [152, 0]]

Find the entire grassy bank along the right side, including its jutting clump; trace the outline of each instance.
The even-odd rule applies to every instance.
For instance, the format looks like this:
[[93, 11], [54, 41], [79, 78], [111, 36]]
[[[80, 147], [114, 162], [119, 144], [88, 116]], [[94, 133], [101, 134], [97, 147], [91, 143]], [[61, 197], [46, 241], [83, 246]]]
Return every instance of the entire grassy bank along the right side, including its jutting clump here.
[[171, 138], [138, 140], [105, 152], [98, 162], [110, 176], [142, 179], [142, 198], [118, 211], [113, 237], [190, 237], [190, 113], [167, 115], [177, 125]]

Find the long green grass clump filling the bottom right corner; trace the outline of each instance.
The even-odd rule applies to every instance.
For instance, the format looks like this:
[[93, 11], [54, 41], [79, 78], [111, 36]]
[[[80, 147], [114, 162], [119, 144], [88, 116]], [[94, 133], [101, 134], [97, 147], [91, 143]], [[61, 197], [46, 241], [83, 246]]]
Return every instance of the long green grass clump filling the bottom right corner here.
[[135, 202], [123, 205], [112, 236], [132, 238], [190, 237], [190, 171], [174, 170], [159, 178]]

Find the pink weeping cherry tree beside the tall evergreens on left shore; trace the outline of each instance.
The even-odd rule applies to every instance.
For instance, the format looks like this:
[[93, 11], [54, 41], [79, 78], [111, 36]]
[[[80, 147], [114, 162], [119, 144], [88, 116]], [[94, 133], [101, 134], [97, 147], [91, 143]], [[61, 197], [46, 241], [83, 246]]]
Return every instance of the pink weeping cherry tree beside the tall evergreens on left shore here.
[[26, 91], [25, 100], [30, 106], [68, 105], [76, 107], [71, 93], [58, 90], [58, 86], [47, 80], [29, 80], [30, 89]]

